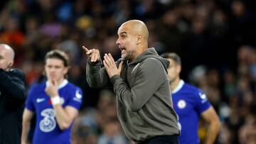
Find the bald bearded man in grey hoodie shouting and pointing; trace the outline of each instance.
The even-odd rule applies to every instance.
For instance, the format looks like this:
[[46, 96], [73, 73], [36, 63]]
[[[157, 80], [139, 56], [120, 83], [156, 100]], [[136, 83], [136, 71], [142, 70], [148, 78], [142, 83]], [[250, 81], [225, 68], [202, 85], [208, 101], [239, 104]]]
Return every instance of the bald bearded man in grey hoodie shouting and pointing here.
[[89, 57], [88, 84], [113, 87], [117, 116], [129, 140], [143, 144], [178, 143], [178, 118], [167, 76], [169, 61], [154, 48], [148, 48], [149, 32], [142, 21], [123, 23], [117, 34], [116, 43], [121, 50], [117, 62], [110, 53], [104, 55], [102, 62], [99, 50], [82, 47]]

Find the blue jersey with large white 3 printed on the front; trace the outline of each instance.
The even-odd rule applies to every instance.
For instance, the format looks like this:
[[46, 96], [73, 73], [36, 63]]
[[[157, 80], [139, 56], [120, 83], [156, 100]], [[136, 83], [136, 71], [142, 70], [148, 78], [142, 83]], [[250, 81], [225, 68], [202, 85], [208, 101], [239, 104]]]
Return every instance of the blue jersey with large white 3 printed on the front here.
[[[33, 136], [34, 144], [70, 144], [70, 130], [72, 125], [65, 131], [60, 130], [55, 118], [50, 96], [45, 92], [46, 82], [31, 88], [26, 101], [26, 109], [36, 113], [36, 129]], [[73, 106], [80, 109], [82, 104], [82, 91], [79, 87], [64, 80], [58, 87], [60, 102], [65, 106]]]

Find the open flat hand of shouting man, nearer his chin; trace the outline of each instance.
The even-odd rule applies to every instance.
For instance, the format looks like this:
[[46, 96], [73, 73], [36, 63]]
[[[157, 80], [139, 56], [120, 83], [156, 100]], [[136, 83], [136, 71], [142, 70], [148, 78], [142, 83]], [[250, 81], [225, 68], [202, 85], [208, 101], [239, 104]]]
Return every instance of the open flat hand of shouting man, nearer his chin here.
[[107, 74], [109, 75], [110, 78], [113, 77], [114, 75], [121, 74], [122, 64], [123, 62], [120, 62], [117, 68], [117, 65], [115, 64], [112, 55], [110, 55], [110, 53], [104, 55], [103, 65], [105, 66]]

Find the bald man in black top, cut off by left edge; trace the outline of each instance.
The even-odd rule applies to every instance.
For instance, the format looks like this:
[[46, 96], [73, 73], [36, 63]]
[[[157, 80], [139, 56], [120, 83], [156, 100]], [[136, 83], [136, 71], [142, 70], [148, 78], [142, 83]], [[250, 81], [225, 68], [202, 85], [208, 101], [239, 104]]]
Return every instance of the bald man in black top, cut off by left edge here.
[[21, 120], [26, 100], [25, 76], [14, 64], [14, 50], [0, 44], [0, 144], [21, 143]]

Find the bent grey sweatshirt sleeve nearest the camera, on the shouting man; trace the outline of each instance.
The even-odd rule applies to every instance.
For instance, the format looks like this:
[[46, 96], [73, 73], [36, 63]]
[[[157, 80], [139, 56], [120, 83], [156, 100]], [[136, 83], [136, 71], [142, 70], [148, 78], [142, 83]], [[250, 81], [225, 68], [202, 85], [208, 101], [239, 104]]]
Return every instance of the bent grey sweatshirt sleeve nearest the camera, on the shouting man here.
[[131, 88], [127, 83], [115, 75], [111, 82], [119, 101], [131, 111], [138, 111], [146, 104], [151, 96], [164, 81], [164, 68], [159, 60], [147, 59], [135, 70], [135, 82]]

